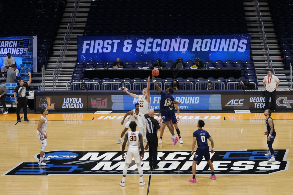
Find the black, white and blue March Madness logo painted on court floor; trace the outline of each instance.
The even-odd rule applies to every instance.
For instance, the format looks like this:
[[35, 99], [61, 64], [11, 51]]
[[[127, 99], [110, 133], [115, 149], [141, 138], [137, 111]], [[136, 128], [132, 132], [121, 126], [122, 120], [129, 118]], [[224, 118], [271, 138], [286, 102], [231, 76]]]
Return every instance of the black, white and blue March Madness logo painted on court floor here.
[[[267, 150], [246, 149], [244, 151], [215, 151], [210, 154], [217, 174], [271, 174], [288, 169], [286, 157], [289, 149], [276, 149], [276, 162], [268, 164]], [[21, 162], [2, 176], [49, 176], [52, 174], [122, 174], [124, 160], [121, 151], [49, 151], [51, 158], [46, 166], [38, 162]], [[40, 154], [36, 154], [38, 159]], [[144, 174], [150, 173], [148, 151], [145, 153], [142, 168]], [[158, 151], [159, 168], [152, 174], [191, 174], [192, 160], [190, 151]], [[208, 164], [203, 159], [197, 165], [197, 174], [210, 174]], [[132, 161], [127, 174], [138, 174]]]

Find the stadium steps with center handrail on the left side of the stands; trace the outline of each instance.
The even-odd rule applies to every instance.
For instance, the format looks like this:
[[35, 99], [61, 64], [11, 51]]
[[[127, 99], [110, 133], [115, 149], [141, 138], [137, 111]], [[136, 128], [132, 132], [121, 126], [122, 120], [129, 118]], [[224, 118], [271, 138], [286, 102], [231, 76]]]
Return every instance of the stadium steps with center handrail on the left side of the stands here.
[[[48, 65], [45, 71], [45, 90], [53, 89], [52, 75], [56, 68], [56, 61], [60, 56], [61, 45], [63, 44], [63, 38], [67, 33], [67, 25], [70, 22], [71, 12], [73, 12], [75, 0], [67, 0], [65, 12], [62, 16], [60, 27], [56, 35], [56, 40], [53, 45], [53, 54], [50, 56]], [[56, 81], [55, 90], [66, 90], [67, 81], [71, 80], [75, 62], [77, 60], [77, 36], [83, 35], [85, 23], [87, 20], [89, 7], [91, 1], [81, 0], [79, 8], [76, 14], [75, 23], [73, 24], [72, 34], [68, 41], [67, 51], [65, 51], [64, 62], [62, 63], [62, 69], [60, 69], [60, 75], [58, 81]]]

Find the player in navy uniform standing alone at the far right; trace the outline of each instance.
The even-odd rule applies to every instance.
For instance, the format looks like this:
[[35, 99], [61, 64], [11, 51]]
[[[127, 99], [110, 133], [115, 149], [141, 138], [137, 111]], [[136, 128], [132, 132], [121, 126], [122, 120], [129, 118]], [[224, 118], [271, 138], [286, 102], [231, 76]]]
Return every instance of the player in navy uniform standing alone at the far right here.
[[272, 163], [276, 162], [275, 156], [274, 156], [274, 150], [272, 147], [272, 144], [274, 143], [275, 137], [276, 137], [276, 131], [274, 128], [274, 122], [271, 118], [272, 111], [269, 109], [266, 109], [264, 112], [264, 115], [266, 116], [266, 132], [264, 133], [267, 135], [266, 140], [269, 147], [269, 153], [265, 154], [265, 156], [272, 156], [271, 159], [269, 159], [267, 162]]

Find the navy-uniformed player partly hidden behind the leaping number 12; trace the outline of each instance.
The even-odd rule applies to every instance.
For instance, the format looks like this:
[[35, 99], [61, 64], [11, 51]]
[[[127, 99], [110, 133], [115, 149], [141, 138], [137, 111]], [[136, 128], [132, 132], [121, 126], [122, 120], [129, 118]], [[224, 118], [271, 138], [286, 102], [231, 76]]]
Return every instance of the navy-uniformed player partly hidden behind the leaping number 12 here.
[[[184, 142], [183, 142], [183, 140], [182, 140], [182, 138], [181, 138], [180, 130], [179, 130], [178, 125], [177, 125], [177, 123], [178, 123], [179, 120], [180, 120], [180, 118], [179, 118], [179, 117], [180, 117], [180, 115], [179, 115], [179, 114], [180, 114], [179, 108], [178, 108], [178, 106], [177, 106], [176, 104], [174, 104], [173, 102], [171, 103], [171, 105], [169, 106], [169, 108], [170, 108], [170, 110], [171, 110], [171, 112], [172, 112], [172, 124], [173, 124], [173, 126], [175, 127], [176, 132], [177, 132], [177, 135], [178, 135], [178, 137], [179, 137], [179, 143], [180, 143], [180, 144], [183, 144]], [[176, 108], [176, 110], [177, 110], [177, 119], [176, 119], [176, 115], [175, 115], [175, 108]], [[177, 120], [178, 120], [178, 122], [177, 122]], [[162, 121], [162, 118], [160, 119], [160, 121]], [[163, 138], [163, 134], [164, 134], [165, 127], [166, 127], [166, 123], [163, 121], [163, 127], [162, 127], [162, 129], [161, 129], [161, 134], [160, 134], [160, 139], [159, 139], [158, 144], [162, 144], [162, 138]], [[170, 142], [174, 142], [174, 139], [171, 138]]]

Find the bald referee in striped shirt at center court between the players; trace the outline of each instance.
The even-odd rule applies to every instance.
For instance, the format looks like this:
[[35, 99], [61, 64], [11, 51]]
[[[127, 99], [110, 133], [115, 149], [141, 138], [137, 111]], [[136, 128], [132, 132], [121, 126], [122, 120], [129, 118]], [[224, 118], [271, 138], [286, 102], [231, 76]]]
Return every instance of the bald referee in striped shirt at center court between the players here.
[[[149, 144], [149, 160], [150, 166], [153, 166], [153, 169], [159, 168], [157, 165], [157, 156], [158, 156], [158, 130], [161, 131], [161, 126], [159, 122], [154, 119], [154, 109], [150, 109], [150, 112], [145, 113], [144, 117], [146, 118], [146, 131], [147, 131], [147, 144]], [[145, 149], [147, 146], [145, 147]]]

